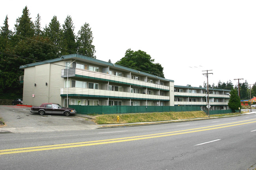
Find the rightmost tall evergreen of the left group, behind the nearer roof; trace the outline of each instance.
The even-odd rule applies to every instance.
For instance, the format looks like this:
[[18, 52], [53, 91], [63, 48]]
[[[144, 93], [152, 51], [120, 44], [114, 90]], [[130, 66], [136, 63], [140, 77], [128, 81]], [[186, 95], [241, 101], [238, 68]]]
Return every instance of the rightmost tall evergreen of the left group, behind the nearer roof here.
[[89, 27], [89, 24], [85, 22], [85, 24], [81, 27], [78, 31], [78, 38], [77, 38], [77, 46], [78, 46], [78, 53], [82, 55], [86, 55], [88, 57], [96, 58], [95, 54], [95, 46], [92, 45], [93, 43], [93, 32]]

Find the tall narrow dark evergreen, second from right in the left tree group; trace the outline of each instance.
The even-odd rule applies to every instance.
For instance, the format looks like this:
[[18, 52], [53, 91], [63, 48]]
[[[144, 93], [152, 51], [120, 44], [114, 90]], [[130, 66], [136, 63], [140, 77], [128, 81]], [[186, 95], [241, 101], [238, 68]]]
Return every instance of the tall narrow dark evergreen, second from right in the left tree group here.
[[[61, 55], [76, 53], [76, 36], [74, 34], [74, 26], [71, 16], [67, 16], [65, 19], [63, 27], [63, 48], [61, 50]], [[66, 50], [67, 49], [67, 50]]]

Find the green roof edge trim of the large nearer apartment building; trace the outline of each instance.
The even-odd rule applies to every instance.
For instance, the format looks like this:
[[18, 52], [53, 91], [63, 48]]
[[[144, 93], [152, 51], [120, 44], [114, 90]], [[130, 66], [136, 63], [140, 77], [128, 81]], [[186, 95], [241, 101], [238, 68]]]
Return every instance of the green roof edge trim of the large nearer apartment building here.
[[42, 62], [35, 62], [35, 63], [31, 63], [31, 64], [22, 65], [22, 66], [20, 66], [20, 69], [24, 69], [24, 68], [28, 68], [28, 67], [32, 67], [32, 66], [38, 66], [38, 65], [42, 65], [42, 64], [53, 63], [53, 62], [57, 62], [57, 61], [61, 61], [61, 60], [66, 60], [66, 59], [69, 59], [69, 58], [89, 60], [89, 61], [96, 62], [96, 63], [99, 63], [99, 64], [103, 64], [103, 65], [106, 65], [106, 66], [121, 68], [121, 69], [124, 69], [126, 71], [132, 71], [134, 73], [139, 73], [139, 74], [142, 74], [142, 75], [154, 77], [156, 79], [169, 81], [169, 82], [174, 82], [174, 80], [165, 79], [163, 77], [158, 77], [156, 75], [144, 73], [142, 71], [137, 71], [135, 69], [127, 68], [127, 67], [124, 67], [124, 66], [120, 66], [120, 65], [117, 65], [117, 64], [110, 63], [110, 62], [105, 62], [105, 61], [102, 61], [102, 60], [97, 60], [95, 58], [91, 58], [91, 57], [87, 57], [85, 55], [79, 55], [79, 54], [63, 55], [60, 58], [55, 58], [55, 59], [46, 60], [46, 61], [42, 61]]

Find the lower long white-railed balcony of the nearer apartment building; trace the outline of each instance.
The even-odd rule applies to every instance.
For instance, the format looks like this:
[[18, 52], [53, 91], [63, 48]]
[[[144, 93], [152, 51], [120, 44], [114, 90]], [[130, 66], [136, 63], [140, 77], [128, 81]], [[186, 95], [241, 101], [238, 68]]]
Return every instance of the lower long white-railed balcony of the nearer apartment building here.
[[[67, 96], [67, 88], [61, 88], [61, 96]], [[68, 95], [81, 97], [104, 97], [116, 99], [138, 99], [138, 100], [157, 100], [169, 101], [169, 96], [147, 95], [139, 93], [129, 93], [122, 91], [98, 90], [88, 88], [68, 88]]]

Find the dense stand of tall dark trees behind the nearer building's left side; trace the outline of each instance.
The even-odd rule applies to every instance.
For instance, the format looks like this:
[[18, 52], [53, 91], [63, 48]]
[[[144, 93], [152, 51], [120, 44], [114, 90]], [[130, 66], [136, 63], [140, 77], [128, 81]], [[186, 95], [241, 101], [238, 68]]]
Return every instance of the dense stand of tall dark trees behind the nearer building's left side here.
[[19, 66], [33, 62], [58, 58], [61, 55], [80, 53], [96, 58], [93, 33], [88, 23], [81, 27], [78, 36], [74, 33], [71, 16], [61, 26], [57, 16], [45, 28], [41, 27], [41, 16], [33, 22], [28, 7], [17, 18], [11, 31], [8, 16], [0, 29], [0, 95], [2, 99], [22, 97]]

